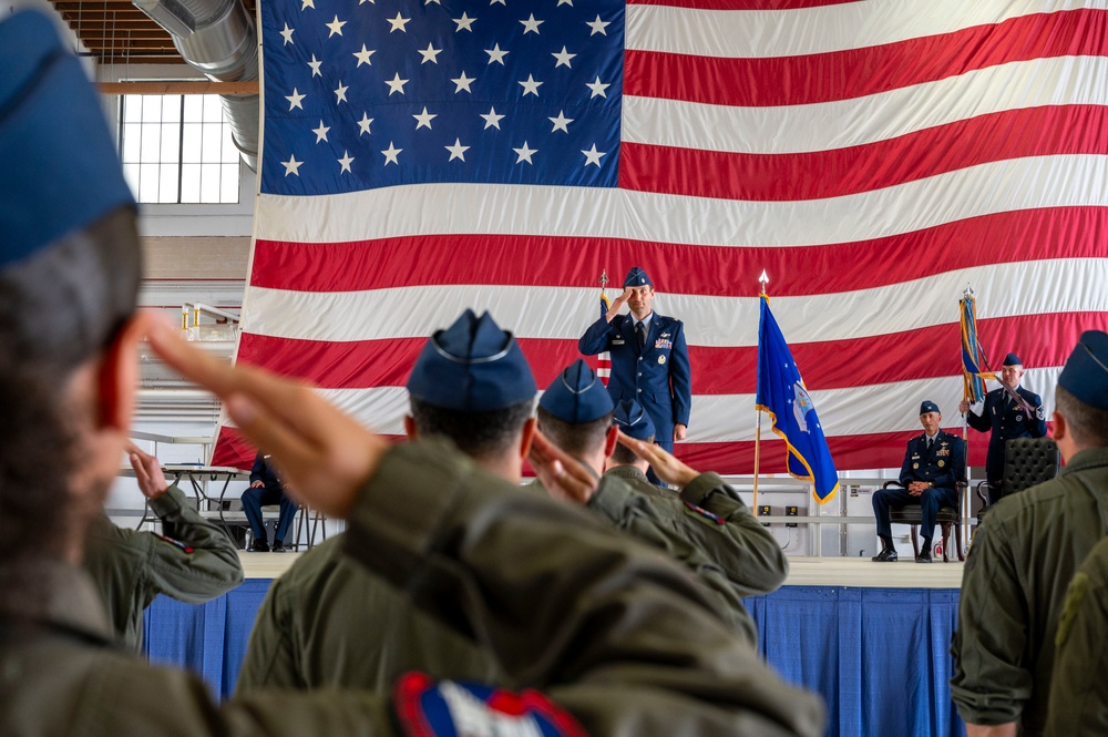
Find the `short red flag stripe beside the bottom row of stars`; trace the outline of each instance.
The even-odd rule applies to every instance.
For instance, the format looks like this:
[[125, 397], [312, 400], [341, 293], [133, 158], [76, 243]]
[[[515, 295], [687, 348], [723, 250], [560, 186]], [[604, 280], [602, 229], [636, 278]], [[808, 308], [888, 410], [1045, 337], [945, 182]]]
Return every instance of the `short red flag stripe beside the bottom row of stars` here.
[[[1053, 105], [979, 115], [861, 146], [784, 155], [625, 143], [628, 190], [749, 201], [842, 197], [989, 162], [1108, 153], [1108, 108]], [[689, 172], [696, 172], [691, 177]]]

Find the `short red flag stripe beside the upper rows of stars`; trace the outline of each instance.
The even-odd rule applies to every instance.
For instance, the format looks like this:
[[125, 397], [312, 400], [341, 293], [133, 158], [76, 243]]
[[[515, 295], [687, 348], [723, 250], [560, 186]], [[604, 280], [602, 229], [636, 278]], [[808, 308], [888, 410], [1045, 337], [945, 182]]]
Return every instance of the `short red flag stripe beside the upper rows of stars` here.
[[1108, 11], [1080, 9], [797, 57], [727, 59], [628, 50], [624, 94], [735, 106], [802, 105], [853, 100], [1015, 61], [1104, 55]]

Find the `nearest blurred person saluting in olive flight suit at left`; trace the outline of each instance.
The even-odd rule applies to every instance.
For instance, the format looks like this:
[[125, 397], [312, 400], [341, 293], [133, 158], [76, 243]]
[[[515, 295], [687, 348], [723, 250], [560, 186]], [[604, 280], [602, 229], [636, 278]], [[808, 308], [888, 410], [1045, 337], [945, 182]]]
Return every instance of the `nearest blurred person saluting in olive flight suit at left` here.
[[[480, 734], [822, 734], [818, 699], [653, 551], [447, 443], [393, 447], [308, 387], [222, 365], [136, 315], [135, 212], [102, 103], [38, 11], [0, 21], [0, 735], [388, 737], [458, 734], [456, 717]], [[195, 676], [113, 648], [80, 566], [131, 432], [143, 335], [306, 502], [349, 519], [352, 561], [496, 663], [496, 687], [408, 674], [216, 704]], [[541, 438], [531, 463], [566, 494], [595, 483]]]

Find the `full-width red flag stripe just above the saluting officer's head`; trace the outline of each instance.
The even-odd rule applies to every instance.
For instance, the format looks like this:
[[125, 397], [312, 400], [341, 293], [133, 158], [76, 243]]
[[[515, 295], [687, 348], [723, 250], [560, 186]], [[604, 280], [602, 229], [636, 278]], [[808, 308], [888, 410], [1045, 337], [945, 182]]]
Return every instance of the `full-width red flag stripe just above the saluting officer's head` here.
[[[1108, 209], [1059, 207], [973, 217], [894, 235], [825, 246], [727, 247], [652, 243], [650, 276], [674, 294], [749, 297], [737, 274], [797, 275], [774, 282], [778, 297], [853, 291], [1006, 260], [1104, 257]], [[644, 244], [626, 238], [450, 235], [339, 244], [258, 240], [253, 286], [296, 291], [358, 291], [416, 285], [587, 285], [605, 265], [633, 265]], [[924, 258], [927, 254], [941, 257]], [[727, 268], [720, 268], [727, 264]], [[819, 278], [800, 278], [813, 274]], [[956, 303], [955, 303], [956, 304]], [[584, 325], [582, 326], [584, 330]]]

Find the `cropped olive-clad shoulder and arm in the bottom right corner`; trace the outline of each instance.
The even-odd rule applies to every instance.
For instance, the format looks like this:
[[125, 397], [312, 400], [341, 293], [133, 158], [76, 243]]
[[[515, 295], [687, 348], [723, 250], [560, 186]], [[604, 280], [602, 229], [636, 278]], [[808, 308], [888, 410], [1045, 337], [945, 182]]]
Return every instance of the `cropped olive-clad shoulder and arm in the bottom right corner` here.
[[1108, 539], [1097, 543], [1066, 592], [1054, 644], [1045, 735], [1108, 735]]

